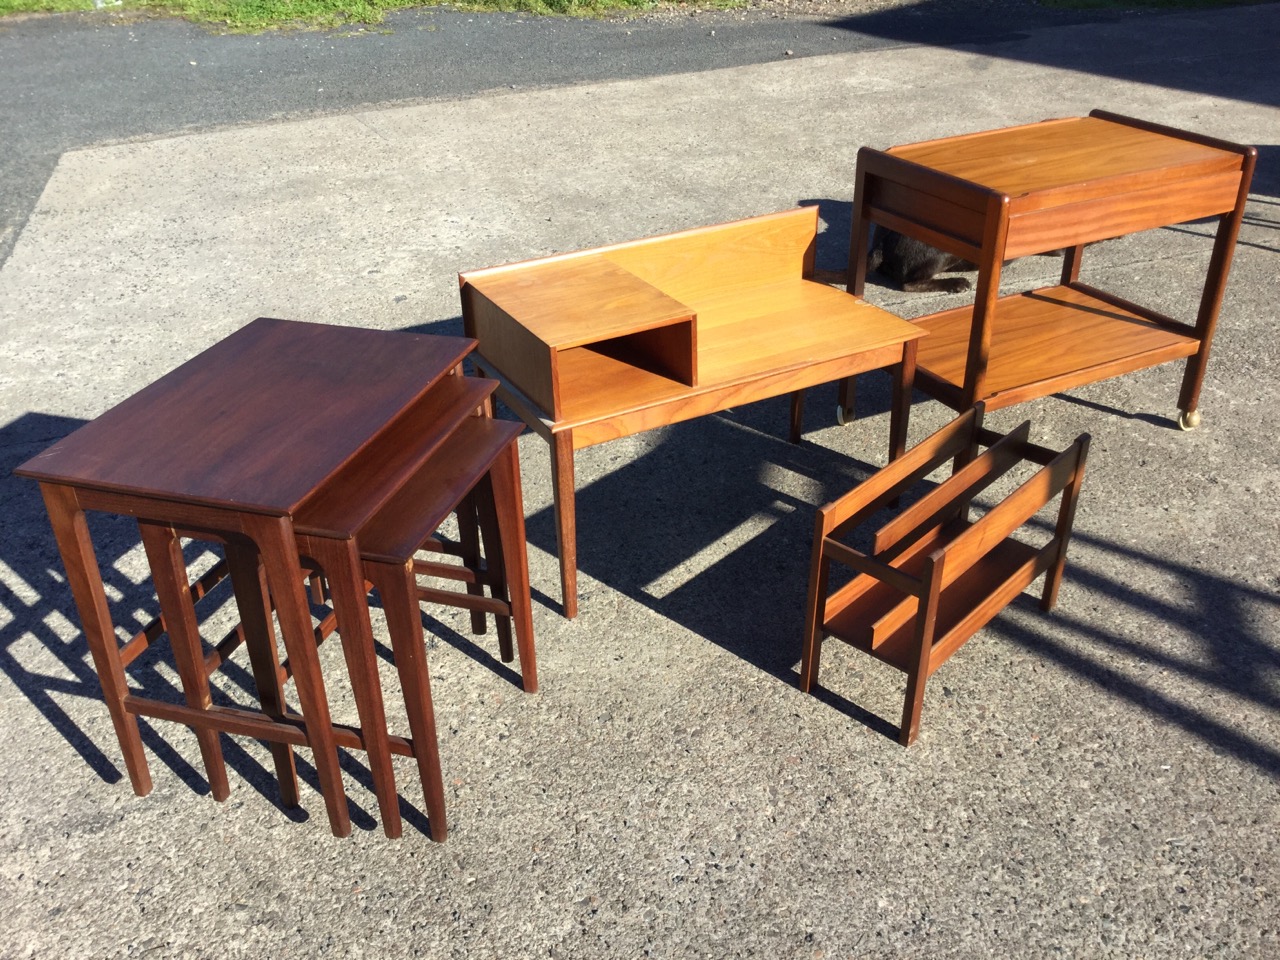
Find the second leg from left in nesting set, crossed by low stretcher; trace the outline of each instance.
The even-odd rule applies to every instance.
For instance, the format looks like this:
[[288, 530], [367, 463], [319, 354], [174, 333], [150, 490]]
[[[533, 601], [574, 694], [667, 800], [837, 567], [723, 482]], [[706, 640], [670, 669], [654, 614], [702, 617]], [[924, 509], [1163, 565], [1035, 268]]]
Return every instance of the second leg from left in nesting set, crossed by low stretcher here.
[[[182, 692], [187, 705], [197, 710], [207, 710], [214, 705], [209, 691], [209, 672], [205, 669], [205, 652], [200, 645], [200, 625], [196, 621], [196, 605], [191, 599], [187, 580], [187, 562], [182, 556], [182, 541], [172, 524], [151, 520], [138, 520], [142, 532], [142, 547], [151, 564], [151, 580], [160, 600], [160, 613], [164, 616], [165, 632], [169, 634], [169, 646], [173, 649], [174, 664], [182, 680]], [[223, 760], [223, 746], [219, 732], [210, 727], [195, 727], [200, 754], [205, 760], [205, 774], [214, 800], [230, 796], [227, 782], [227, 763]]]

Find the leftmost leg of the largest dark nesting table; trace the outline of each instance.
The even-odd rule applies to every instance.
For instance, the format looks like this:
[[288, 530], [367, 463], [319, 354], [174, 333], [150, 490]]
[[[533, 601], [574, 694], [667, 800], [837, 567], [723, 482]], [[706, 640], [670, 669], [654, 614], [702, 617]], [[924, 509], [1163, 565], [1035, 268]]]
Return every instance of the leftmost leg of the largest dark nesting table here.
[[93, 657], [99, 684], [102, 686], [102, 699], [111, 714], [115, 736], [120, 741], [124, 755], [124, 768], [129, 773], [133, 792], [146, 796], [151, 792], [151, 772], [142, 751], [142, 736], [138, 731], [138, 718], [124, 707], [128, 695], [128, 682], [124, 678], [124, 666], [120, 662], [120, 648], [111, 623], [111, 612], [106, 605], [106, 591], [102, 588], [102, 575], [93, 553], [93, 541], [88, 535], [84, 511], [79, 506], [76, 490], [63, 484], [41, 484], [40, 492], [49, 511], [49, 522], [54, 529], [58, 552], [67, 568], [67, 582], [70, 585], [76, 609], [79, 612], [84, 641]]

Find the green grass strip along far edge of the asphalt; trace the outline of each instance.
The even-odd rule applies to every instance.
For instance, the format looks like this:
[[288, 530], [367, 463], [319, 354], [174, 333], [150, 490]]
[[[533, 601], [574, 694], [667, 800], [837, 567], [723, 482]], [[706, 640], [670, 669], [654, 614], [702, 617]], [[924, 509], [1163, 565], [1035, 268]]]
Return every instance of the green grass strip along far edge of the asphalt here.
[[[463, 10], [596, 17], [640, 10], [655, 0], [460, 0]], [[708, 4], [713, 5], [713, 4]], [[421, 0], [0, 0], [0, 17], [15, 13], [76, 13], [95, 9], [182, 17], [228, 31], [279, 27], [340, 27], [381, 23], [388, 10], [422, 6]]]

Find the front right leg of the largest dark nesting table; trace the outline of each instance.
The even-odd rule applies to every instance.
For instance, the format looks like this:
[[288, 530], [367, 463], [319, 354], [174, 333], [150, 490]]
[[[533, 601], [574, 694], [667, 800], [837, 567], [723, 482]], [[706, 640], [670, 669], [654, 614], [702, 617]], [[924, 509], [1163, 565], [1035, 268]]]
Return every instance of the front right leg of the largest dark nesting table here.
[[257, 544], [266, 570], [266, 582], [275, 600], [275, 616], [280, 622], [285, 653], [293, 666], [293, 681], [306, 718], [307, 745], [320, 778], [329, 827], [334, 836], [346, 837], [351, 833], [351, 815], [338, 767], [338, 745], [333, 735], [324, 677], [320, 675], [320, 658], [293, 526], [287, 517], [244, 515], [243, 531]]

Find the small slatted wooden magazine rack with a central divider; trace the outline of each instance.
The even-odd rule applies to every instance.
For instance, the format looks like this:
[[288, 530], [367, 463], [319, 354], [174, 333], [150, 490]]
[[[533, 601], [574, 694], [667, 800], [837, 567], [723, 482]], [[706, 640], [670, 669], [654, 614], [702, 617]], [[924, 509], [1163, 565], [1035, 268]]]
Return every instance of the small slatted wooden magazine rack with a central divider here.
[[[819, 509], [815, 521], [800, 689], [817, 682], [827, 635], [896, 667], [906, 673], [904, 746], [919, 733], [925, 681], [951, 654], [1046, 572], [1041, 607], [1057, 602], [1089, 436], [1056, 453], [1028, 442], [1029, 422], [1001, 436], [982, 428], [982, 416], [979, 403]], [[982, 454], [979, 444], [988, 445]], [[844, 543], [948, 460], [951, 477], [879, 526], [869, 553]], [[1042, 467], [970, 522], [973, 498], [1024, 461]], [[1046, 543], [1012, 536], [1059, 494]], [[833, 563], [856, 576], [828, 591]]]

